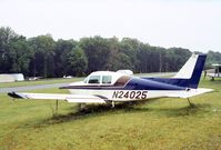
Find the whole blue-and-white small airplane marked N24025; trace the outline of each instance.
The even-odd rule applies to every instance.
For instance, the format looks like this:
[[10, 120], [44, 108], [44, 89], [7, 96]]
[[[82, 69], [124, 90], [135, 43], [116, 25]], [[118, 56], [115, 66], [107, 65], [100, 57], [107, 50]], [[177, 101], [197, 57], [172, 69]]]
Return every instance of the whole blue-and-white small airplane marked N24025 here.
[[[140, 101], [152, 98], [188, 99], [212, 89], [198, 88], [207, 54], [192, 54], [180, 71], [172, 78], [142, 78], [132, 76], [130, 70], [96, 71], [83, 81], [73, 82], [60, 89], [71, 94], [9, 92], [8, 96], [21, 99], [66, 100], [77, 103], [110, 103]], [[191, 106], [191, 103], [190, 103]]]

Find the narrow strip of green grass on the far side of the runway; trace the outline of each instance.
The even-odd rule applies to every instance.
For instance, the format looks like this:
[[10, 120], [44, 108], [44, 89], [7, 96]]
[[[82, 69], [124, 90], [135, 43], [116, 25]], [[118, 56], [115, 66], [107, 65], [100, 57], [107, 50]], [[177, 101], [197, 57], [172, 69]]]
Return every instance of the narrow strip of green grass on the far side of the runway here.
[[37, 80], [37, 81], [4, 82], [4, 83], [0, 83], [0, 88], [74, 82], [81, 79], [82, 78], [71, 78], [71, 79], [58, 78], [58, 79], [43, 79], [43, 80]]

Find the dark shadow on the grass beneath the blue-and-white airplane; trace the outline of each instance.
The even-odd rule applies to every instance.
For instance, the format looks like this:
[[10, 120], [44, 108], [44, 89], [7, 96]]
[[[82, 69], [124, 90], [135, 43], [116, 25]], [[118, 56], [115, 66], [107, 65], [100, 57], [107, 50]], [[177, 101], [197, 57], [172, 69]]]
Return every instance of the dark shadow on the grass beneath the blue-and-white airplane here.
[[78, 119], [87, 119], [89, 117], [91, 118], [98, 116], [109, 116], [122, 112], [124, 113], [155, 112], [155, 114], [162, 117], [197, 116], [208, 112], [207, 108], [210, 108], [210, 104], [192, 104], [192, 106], [187, 106], [184, 108], [148, 108], [148, 107], [142, 108], [141, 107], [141, 104], [148, 104], [155, 100], [157, 99], [149, 101], [117, 103], [114, 108], [111, 108], [110, 104], [87, 104], [82, 110], [77, 110], [77, 107], [72, 107], [72, 110], [77, 110], [76, 112], [53, 116], [52, 118], [43, 120], [38, 126], [41, 127], [49, 124], [58, 124]]

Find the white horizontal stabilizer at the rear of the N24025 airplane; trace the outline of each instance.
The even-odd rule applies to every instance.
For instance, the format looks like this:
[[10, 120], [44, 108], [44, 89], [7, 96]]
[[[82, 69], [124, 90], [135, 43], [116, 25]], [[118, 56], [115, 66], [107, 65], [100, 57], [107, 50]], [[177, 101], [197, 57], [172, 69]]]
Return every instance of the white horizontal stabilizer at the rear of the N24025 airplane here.
[[204, 89], [204, 88], [198, 88], [198, 89], [190, 89], [188, 91], [181, 91], [179, 93], [169, 93], [167, 97], [173, 97], [173, 98], [190, 98], [194, 97], [201, 93], [210, 92], [212, 89]]

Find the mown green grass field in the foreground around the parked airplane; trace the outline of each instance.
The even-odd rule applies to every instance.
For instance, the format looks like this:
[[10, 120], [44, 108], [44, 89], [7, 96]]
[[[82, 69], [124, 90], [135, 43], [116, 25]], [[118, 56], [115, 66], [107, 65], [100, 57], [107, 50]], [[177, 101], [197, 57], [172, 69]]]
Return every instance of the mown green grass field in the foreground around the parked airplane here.
[[[0, 150], [217, 150], [221, 149], [221, 80], [202, 80], [213, 92], [187, 100], [162, 98], [133, 104], [87, 106], [12, 101], [0, 94]], [[34, 92], [68, 92], [44, 89]]]

